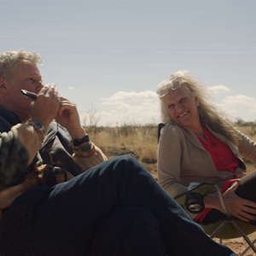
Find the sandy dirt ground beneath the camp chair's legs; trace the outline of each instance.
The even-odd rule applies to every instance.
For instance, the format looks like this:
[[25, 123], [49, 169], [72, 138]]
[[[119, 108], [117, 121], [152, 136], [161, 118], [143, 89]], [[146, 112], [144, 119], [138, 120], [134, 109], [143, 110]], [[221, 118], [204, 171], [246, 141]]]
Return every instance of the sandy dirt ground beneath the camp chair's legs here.
[[[249, 239], [252, 241], [256, 238], [256, 232], [248, 236]], [[215, 239], [215, 241], [219, 242], [218, 239]], [[234, 251], [236, 254], [240, 254], [243, 252], [243, 250], [247, 247], [247, 242], [243, 238], [236, 238], [236, 239], [230, 239], [230, 240], [224, 240], [223, 244], [227, 247], [230, 247], [232, 251]], [[255, 243], [256, 244], [256, 243]], [[254, 245], [255, 245], [254, 244]], [[253, 250], [250, 248], [247, 253], [244, 254], [245, 256], [255, 256], [256, 253], [253, 253]]]

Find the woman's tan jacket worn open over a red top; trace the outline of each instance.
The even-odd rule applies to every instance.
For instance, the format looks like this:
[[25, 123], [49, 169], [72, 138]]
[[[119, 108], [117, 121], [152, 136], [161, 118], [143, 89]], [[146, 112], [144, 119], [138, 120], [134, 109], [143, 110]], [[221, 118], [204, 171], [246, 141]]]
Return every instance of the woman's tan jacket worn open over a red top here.
[[[236, 147], [220, 133], [209, 127], [207, 129], [229, 146], [239, 160], [242, 156], [256, 162], [256, 143], [249, 137], [236, 131], [239, 137], [239, 145]], [[221, 188], [234, 175], [215, 168], [211, 155], [201, 145], [194, 131], [171, 124], [164, 126], [160, 132], [157, 168], [160, 185], [172, 197], [188, 191], [191, 182], [216, 183]], [[235, 174], [245, 171], [246, 166], [241, 160]]]

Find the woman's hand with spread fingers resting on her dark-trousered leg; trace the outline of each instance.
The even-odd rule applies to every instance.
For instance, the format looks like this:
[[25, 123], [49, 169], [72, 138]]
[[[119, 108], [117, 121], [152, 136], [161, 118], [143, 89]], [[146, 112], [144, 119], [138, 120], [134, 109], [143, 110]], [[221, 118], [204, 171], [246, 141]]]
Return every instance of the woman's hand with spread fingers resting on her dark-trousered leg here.
[[[248, 201], [236, 195], [236, 189], [238, 189], [240, 181], [233, 183], [229, 189], [224, 192], [224, 203], [227, 211], [231, 216], [240, 218], [242, 221], [249, 222], [250, 220], [255, 221], [256, 217], [249, 213], [256, 215], [256, 203]], [[222, 207], [219, 208], [224, 213]]]

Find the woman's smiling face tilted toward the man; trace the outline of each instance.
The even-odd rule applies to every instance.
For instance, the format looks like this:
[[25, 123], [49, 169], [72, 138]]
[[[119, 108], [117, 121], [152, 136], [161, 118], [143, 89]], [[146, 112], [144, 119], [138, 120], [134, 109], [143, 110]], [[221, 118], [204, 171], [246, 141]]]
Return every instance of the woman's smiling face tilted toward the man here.
[[201, 125], [197, 111], [199, 99], [191, 94], [181, 85], [177, 90], [169, 90], [162, 100], [166, 105], [167, 113], [177, 125], [194, 130], [193, 128]]

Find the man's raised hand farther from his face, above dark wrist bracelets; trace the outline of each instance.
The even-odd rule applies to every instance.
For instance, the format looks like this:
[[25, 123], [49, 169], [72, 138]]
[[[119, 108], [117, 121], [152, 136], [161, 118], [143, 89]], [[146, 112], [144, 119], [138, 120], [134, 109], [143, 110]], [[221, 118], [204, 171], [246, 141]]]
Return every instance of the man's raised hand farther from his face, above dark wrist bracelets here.
[[75, 103], [61, 97], [61, 106], [55, 120], [67, 129], [73, 139], [84, 137], [85, 131], [80, 125], [79, 113]]

